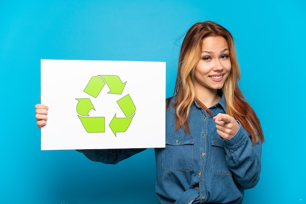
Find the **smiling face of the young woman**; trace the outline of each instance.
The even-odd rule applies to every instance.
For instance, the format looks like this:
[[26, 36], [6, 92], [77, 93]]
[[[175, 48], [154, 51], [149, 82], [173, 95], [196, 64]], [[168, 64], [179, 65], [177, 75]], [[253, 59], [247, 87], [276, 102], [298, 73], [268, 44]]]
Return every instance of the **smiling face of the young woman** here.
[[220, 36], [202, 41], [201, 58], [195, 68], [196, 91], [217, 91], [223, 87], [232, 65], [227, 41]]

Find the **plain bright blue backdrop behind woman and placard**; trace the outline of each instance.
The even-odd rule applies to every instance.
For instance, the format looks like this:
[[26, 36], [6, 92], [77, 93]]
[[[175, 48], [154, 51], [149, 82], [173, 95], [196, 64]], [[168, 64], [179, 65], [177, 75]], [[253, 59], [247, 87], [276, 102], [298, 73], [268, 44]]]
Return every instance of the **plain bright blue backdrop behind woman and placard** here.
[[156, 204], [153, 149], [117, 165], [40, 150], [40, 59], [166, 61], [169, 97], [185, 32], [213, 20], [235, 38], [266, 138], [243, 204], [305, 204], [305, 11], [304, 0], [1, 0], [0, 203]]

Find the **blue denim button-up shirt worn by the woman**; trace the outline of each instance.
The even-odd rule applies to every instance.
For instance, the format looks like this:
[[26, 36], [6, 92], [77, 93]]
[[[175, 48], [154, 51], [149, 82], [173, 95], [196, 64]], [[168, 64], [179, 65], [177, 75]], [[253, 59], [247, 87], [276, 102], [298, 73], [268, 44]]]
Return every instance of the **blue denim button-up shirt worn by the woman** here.
[[[175, 100], [175, 99], [172, 99]], [[209, 108], [226, 112], [222, 95]], [[216, 132], [216, 123], [195, 101], [189, 113], [190, 134], [175, 131], [175, 108], [166, 111], [166, 148], [156, 148], [156, 194], [161, 204], [241, 204], [243, 190], [254, 187], [261, 171], [261, 142], [252, 146], [240, 129], [230, 140]], [[144, 149], [79, 150], [87, 158], [118, 163]], [[199, 190], [195, 186], [199, 185]]]

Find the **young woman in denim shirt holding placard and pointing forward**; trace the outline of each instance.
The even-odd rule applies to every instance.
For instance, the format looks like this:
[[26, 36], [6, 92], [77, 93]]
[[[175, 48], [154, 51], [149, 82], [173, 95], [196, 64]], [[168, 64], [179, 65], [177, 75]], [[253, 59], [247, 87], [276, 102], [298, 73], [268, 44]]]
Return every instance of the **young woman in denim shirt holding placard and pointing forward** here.
[[[156, 148], [161, 204], [241, 204], [260, 177], [260, 121], [239, 86], [233, 37], [198, 22], [181, 46], [175, 94], [166, 100], [166, 148]], [[36, 105], [37, 125], [48, 107]], [[118, 163], [144, 149], [78, 150], [92, 161]]]

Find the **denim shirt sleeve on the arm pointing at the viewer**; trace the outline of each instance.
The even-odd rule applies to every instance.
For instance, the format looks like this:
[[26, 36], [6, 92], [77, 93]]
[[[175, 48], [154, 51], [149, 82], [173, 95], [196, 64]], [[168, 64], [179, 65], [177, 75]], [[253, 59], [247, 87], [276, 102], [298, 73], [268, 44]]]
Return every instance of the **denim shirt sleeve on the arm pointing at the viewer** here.
[[240, 124], [236, 135], [224, 143], [226, 161], [236, 184], [242, 189], [255, 187], [261, 172], [262, 142], [253, 146], [250, 134]]

